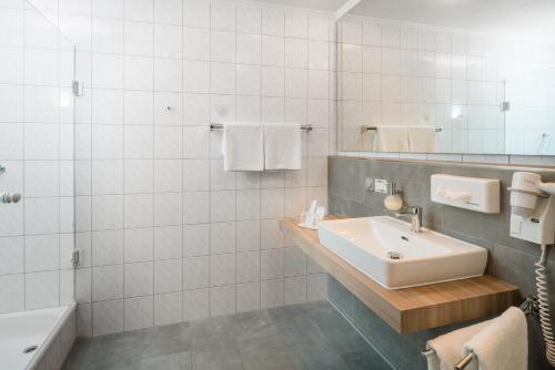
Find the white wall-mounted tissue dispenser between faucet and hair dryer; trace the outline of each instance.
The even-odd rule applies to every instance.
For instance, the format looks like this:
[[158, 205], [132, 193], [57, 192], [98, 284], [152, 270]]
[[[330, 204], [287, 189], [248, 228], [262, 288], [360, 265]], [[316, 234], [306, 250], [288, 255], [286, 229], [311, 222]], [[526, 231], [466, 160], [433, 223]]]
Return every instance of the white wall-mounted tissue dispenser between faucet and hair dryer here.
[[500, 213], [500, 181], [436, 174], [431, 177], [432, 202], [486, 214]]

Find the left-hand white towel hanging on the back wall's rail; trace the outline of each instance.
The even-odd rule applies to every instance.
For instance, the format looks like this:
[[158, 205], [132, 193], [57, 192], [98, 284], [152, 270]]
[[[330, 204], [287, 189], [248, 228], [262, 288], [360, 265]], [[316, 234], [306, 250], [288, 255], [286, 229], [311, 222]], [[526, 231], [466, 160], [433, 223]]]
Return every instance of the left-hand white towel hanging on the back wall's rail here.
[[264, 126], [260, 123], [224, 123], [222, 154], [225, 171], [263, 171]]

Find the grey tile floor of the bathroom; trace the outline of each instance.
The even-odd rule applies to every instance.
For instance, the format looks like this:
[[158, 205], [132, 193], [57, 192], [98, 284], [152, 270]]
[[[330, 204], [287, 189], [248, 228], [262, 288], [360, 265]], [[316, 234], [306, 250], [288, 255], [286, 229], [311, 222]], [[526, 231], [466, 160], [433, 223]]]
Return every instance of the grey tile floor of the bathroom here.
[[81, 339], [63, 369], [391, 370], [327, 301]]

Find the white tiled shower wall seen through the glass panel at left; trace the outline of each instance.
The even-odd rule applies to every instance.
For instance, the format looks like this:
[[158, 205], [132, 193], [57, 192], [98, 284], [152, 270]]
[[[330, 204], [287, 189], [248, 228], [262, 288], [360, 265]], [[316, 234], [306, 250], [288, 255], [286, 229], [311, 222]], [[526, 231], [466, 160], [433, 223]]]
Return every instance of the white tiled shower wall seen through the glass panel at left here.
[[0, 1], [0, 314], [73, 300], [73, 44]]

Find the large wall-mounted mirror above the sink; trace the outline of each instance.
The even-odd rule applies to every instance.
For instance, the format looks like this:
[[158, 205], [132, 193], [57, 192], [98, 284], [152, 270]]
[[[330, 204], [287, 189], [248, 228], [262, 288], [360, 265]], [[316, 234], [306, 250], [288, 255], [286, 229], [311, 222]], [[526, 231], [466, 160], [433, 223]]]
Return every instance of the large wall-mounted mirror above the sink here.
[[555, 1], [361, 0], [337, 66], [340, 151], [555, 155]]

